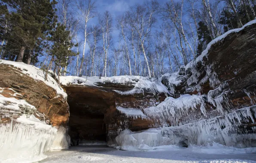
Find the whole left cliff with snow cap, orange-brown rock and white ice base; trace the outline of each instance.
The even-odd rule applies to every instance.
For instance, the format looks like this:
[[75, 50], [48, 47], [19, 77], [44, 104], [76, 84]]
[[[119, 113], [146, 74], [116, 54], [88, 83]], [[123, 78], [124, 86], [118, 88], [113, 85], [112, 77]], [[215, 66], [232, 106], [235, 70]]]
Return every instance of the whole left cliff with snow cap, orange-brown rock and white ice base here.
[[0, 162], [39, 161], [45, 151], [68, 148], [67, 94], [57, 82], [12, 61], [0, 60], [0, 74]]

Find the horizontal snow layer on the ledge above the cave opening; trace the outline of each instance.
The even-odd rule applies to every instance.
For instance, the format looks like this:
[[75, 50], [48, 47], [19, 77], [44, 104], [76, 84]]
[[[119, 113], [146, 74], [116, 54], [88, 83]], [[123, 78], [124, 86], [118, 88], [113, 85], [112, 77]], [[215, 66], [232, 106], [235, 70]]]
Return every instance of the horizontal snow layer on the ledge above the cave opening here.
[[134, 76], [134, 75], [122, 75], [122, 76], [112, 76], [112, 77], [78, 77], [78, 76], [60, 76], [61, 85], [88, 85], [98, 87], [97, 83], [113, 83], [119, 85], [134, 86], [131, 91], [116, 91], [120, 94], [134, 94], [138, 93], [142, 89], [149, 89], [153, 92], [164, 92], [168, 93], [167, 88], [155, 78]]

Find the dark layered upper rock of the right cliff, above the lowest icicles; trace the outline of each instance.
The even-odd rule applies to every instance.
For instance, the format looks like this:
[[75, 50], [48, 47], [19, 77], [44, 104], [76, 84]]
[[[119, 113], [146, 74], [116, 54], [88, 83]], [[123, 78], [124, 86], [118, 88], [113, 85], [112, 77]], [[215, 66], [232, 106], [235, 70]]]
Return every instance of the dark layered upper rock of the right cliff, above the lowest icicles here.
[[174, 98], [181, 94], [205, 95], [206, 115], [199, 110], [193, 113], [194, 116], [180, 119], [182, 124], [204, 117], [226, 115], [255, 105], [255, 34], [256, 24], [230, 33], [213, 42], [197, 60], [181, 67], [179, 72], [162, 77], [162, 83], [169, 88]]

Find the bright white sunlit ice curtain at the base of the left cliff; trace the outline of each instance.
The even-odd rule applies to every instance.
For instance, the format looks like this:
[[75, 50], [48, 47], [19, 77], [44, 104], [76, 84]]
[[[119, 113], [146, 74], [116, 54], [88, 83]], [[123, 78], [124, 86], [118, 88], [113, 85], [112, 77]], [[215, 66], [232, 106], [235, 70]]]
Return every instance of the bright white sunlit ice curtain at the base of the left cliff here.
[[39, 161], [49, 151], [57, 130], [30, 115], [0, 124], [0, 158], [4, 162]]

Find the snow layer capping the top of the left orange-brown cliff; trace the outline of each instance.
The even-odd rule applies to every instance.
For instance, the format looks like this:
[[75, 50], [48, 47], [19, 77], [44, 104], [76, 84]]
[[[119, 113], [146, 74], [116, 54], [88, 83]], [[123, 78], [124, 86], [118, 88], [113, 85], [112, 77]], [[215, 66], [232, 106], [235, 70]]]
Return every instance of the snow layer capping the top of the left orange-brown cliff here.
[[67, 97], [67, 94], [64, 92], [64, 90], [62, 88], [59, 87], [58, 83], [54, 80], [54, 78], [52, 78], [50, 75], [48, 75], [47, 80], [45, 80], [45, 73], [40, 68], [37, 68], [32, 65], [28, 65], [23, 62], [14, 62], [14, 61], [9, 61], [9, 60], [0, 60], [0, 64], [8, 64], [8, 65], [17, 67], [17, 68], [21, 69], [21, 72], [29, 75], [31, 78], [34, 78], [36, 81], [42, 81], [46, 85], [55, 89], [57, 91], [57, 94], [61, 94], [64, 98]]

